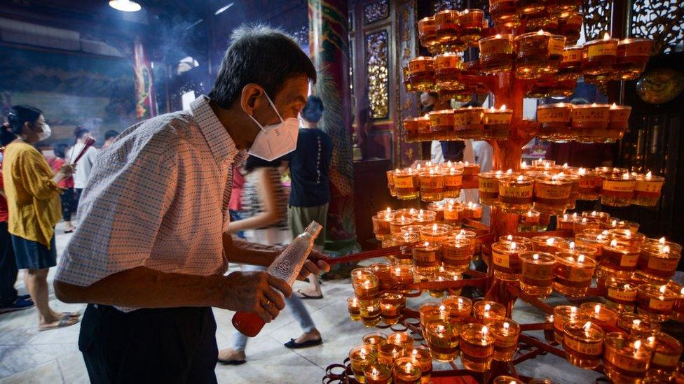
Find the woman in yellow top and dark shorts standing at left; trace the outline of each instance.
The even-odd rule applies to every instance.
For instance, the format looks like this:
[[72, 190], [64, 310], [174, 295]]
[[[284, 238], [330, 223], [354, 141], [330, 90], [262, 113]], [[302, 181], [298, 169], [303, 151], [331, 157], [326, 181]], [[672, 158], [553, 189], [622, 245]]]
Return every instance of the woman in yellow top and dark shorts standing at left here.
[[39, 329], [66, 327], [78, 322], [80, 313], [57, 313], [48, 304], [48, 271], [57, 265], [55, 225], [60, 220], [57, 183], [74, 173], [64, 165], [53, 175], [34, 144], [50, 136], [43, 113], [31, 106], [13, 106], [2, 136], [15, 139], [5, 148], [3, 181], [17, 266], [25, 269], [27, 290], [38, 308]]

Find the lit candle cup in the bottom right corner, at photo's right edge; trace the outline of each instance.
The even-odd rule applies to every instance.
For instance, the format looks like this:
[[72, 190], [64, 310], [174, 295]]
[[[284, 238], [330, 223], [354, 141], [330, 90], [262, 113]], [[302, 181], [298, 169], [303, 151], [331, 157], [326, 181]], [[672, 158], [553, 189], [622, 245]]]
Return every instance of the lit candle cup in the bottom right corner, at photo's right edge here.
[[671, 383], [682, 355], [681, 341], [664, 332], [658, 332], [648, 339], [653, 348], [653, 357], [648, 367], [648, 379], [652, 383]]

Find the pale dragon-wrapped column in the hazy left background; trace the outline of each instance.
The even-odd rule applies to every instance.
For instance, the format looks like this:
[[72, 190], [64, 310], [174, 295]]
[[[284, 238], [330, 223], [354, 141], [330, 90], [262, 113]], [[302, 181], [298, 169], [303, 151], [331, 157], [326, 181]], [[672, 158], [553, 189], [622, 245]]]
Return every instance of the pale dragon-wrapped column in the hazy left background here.
[[157, 115], [152, 68], [141, 38], [133, 45], [133, 73], [135, 80], [135, 116], [138, 121]]

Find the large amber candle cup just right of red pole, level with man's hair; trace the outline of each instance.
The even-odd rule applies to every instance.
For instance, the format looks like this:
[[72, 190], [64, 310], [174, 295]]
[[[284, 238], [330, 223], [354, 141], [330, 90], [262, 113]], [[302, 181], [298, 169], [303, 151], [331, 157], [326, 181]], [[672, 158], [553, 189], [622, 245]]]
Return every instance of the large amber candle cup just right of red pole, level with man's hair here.
[[[549, 46], [551, 34], [540, 31], [515, 36], [515, 77], [520, 79], [540, 78], [543, 73], [550, 72]], [[562, 48], [561, 48], [562, 49]], [[558, 66], [556, 66], [556, 70]]]

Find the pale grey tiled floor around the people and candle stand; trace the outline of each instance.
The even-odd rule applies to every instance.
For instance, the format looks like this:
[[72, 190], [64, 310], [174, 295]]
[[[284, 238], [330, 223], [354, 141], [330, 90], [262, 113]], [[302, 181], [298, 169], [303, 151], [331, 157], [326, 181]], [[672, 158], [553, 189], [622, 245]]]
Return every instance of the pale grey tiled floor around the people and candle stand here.
[[[61, 253], [69, 236], [57, 227], [57, 251]], [[54, 271], [53, 271], [54, 273]], [[53, 273], [50, 273], [50, 281]], [[297, 283], [300, 284], [300, 283]], [[25, 292], [23, 283], [18, 283]], [[369, 332], [359, 322], [347, 316], [346, 299], [352, 294], [348, 280], [324, 283], [325, 299], [307, 300], [313, 320], [320, 329], [322, 346], [289, 350], [282, 343], [301, 333], [292, 315], [284, 311], [274, 322], [247, 346], [247, 364], [239, 367], [219, 365], [219, 383], [320, 383], [327, 365], [341, 362], [350, 348], [360, 343]], [[427, 295], [423, 295], [427, 296]], [[411, 299], [416, 308], [426, 297]], [[60, 311], [83, 310], [82, 305], [63, 304], [50, 296], [53, 308]], [[517, 304], [515, 320], [536, 322], [538, 311], [526, 304]], [[228, 346], [233, 331], [230, 311], [214, 310], [219, 348]], [[533, 332], [531, 333], [533, 334]], [[78, 325], [47, 332], [39, 332], [35, 309], [0, 315], [0, 383], [88, 383], [86, 367], [76, 345]], [[457, 363], [460, 366], [460, 363]], [[435, 369], [448, 366], [436, 365]], [[518, 367], [520, 374], [546, 377], [557, 383], [591, 383], [597, 377], [592, 371], [576, 369], [566, 360], [553, 355], [528, 360]]]

